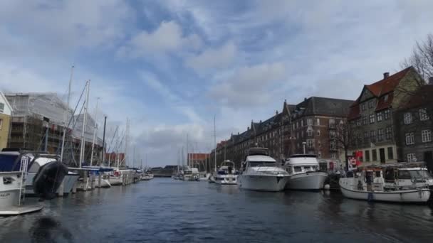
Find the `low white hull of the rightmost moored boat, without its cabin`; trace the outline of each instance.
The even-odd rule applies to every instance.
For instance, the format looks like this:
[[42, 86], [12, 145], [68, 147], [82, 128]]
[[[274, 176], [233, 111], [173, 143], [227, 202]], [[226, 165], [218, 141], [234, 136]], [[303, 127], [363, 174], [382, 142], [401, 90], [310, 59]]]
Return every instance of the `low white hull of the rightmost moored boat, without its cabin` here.
[[429, 189], [395, 190], [395, 191], [365, 191], [353, 190], [350, 183], [340, 179], [340, 190], [346, 198], [378, 201], [378, 202], [400, 202], [400, 203], [425, 203], [429, 200], [431, 192]]

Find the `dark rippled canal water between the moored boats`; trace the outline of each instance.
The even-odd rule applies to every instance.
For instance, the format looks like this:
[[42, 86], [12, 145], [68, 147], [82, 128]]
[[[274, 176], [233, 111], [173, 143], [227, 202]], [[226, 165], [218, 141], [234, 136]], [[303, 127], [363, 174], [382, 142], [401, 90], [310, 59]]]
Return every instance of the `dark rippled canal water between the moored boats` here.
[[261, 193], [171, 178], [43, 202], [0, 217], [0, 242], [431, 242], [433, 207]]

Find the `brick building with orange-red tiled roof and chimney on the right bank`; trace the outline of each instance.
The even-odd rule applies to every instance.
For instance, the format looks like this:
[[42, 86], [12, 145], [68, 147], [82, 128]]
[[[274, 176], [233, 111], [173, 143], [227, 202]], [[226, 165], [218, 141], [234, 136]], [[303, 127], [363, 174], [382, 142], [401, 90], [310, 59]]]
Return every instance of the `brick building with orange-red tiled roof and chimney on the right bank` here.
[[385, 72], [382, 80], [364, 85], [350, 106], [350, 153], [362, 151], [364, 163], [392, 163], [399, 159], [393, 115], [408, 102], [409, 92], [417, 90], [419, 78], [414, 68], [409, 67], [394, 75]]

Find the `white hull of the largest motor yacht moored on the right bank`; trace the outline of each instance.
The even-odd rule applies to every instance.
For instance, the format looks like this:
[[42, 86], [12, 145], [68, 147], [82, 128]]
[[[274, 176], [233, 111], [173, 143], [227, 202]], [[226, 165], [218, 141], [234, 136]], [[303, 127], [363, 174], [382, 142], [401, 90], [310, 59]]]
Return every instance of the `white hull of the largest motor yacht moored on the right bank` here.
[[284, 190], [288, 175], [239, 175], [239, 188], [278, 192]]

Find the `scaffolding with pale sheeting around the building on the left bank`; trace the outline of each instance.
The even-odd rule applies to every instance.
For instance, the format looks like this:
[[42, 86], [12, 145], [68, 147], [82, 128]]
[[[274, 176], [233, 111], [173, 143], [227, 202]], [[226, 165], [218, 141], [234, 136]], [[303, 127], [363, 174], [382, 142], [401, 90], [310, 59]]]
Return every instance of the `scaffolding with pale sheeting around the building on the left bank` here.
[[[65, 163], [75, 164], [80, 153], [80, 139], [83, 129], [83, 114], [74, 115], [73, 110], [56, 93], [18, 93], [5, 95], [14, 112], [11, 119], [11, 137], [9, 147], [42, 150], [45, 146], [50, 153], [61, 153], [61, 141], [64, 126], [66, 129]], [[68, 124], [64, 124], [68, 109]], [[80, 112], [80, 110], [76, 111]], [[85, 160], [89, 161], [93, 142], [95, 120], [87, 115], [85, 128]], [[48, 129], [48, 139], [45, 142]], [[95, 139], [95, 153], [100, 153], [102, 139]], [[98, 158], [99, 156], [95, 156]]]

